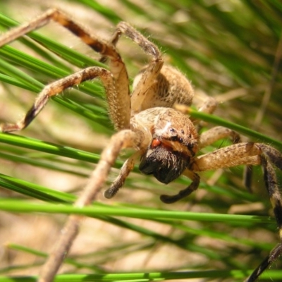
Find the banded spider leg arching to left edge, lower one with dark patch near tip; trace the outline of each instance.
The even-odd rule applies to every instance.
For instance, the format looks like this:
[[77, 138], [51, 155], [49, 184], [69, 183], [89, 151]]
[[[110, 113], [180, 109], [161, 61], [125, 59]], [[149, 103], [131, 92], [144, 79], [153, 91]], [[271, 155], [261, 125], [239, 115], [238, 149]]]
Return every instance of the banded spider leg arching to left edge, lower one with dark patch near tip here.
[[42, 92], [39, 93], [35, 103], [32, 105], [27, 114], [18, 121], [17, 123], [1, 123], [0, 132], [12, 132], [17, 130], [22, 130], [29, 125], [32, 120], [39, 114], [39, 112], [44, 108], [44, 106], [49, 101], [49, 98], [59, 94], [63, 90], [74, 85], [79, 85], [85, 80], [92, 80], [93, 78], [99, 77], [104, 83], [106, 93], [109, 97], [115, 95], [114, 80], [111, 73], [104, 68], [90, 67], [85, 68], [78, 73], [73, 73], [72, 75], [62, 78], [44, 87]]

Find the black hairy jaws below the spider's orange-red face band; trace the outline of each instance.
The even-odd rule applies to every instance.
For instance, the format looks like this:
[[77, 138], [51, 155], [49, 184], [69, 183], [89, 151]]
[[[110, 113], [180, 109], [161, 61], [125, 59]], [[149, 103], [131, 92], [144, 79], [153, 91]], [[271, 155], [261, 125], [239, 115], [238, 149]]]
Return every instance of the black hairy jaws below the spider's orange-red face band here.
[[148, 149], [142, 156], [139, 169], [144, 174], [153, 174], [161, 183], [167, 184], [178, 178], [188, 166], [190, 158], [165, 147]]

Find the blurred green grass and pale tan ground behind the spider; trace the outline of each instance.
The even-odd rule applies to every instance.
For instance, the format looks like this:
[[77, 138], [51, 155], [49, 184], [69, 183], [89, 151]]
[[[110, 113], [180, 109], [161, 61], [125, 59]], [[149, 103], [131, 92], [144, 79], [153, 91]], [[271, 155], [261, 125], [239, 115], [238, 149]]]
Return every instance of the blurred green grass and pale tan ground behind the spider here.
[[[159, 46], [166, 63], [187, 75], [197, 96], [217, 99], [217, 116], [281, 140], [281, 1], [60, 0], [49, 1], [48, 6], [59, 7], [104, 38], [109, 38], [120, 20], [127, 21]], [[45, 1], [2, 1], [1, 32], [15, 25], [13, 20], [27, 22], [46, 9]], [[0, 49], [1, 121], [16, 121], [47, 83], [80, 68], [100, 65], [95, 61], [98, 54], [56, 23], [32, 32], [30, 37]], [[118, 50], [130, 78], [149, 60], [125, 38], [118, 43]], [[114, 132], [99, 82], [86, 82], [54, 100], [23, 132], [11, 137], [0, 135], [2, 198], [16, 199], [18, 204], [35, 199], [72, 202], [93, 168], [91, 163], [97, 162]], [[30, 138], [63, 147], [58, 150]], [[228, 140], [216, 142], [203, 152], [228, 144]], [[117, 161], [116, 168], [127, 155], [125, 152]], [[109, 183], [118, 173], [116, 168]], [[136, 168], [113, 200], [101, 195], [99, 202], [183, 212], [272, 215], [260, 168], [254, 172], [252, 195], [243, 187], [241, 167], [202, 173], [201, 177], [202, 189], [166, 206], [158, 195], [164, 190], [173, 193], [189, 180], [180, 178], [164, 186], [152, 177], [141, 176]], [[44, 262], [42, 256], [51, 250], [65, 220], [66, 216], [59, 214], [1, 212], [0, 273], [37, 274]], [[61, 271], [252, 270], [278, 240], [271, 222], [87, 219], [71, 251], [72, 261]], [[281, 261], [274, 264], [274, 269], [279, 268]], [[274, 279], [270, 274], [266, 271], [265, 281]], [[212, 276], [193, 281], [206, 280]], [[228, 274], [214, 281], [235, 281], [235, 277]]]

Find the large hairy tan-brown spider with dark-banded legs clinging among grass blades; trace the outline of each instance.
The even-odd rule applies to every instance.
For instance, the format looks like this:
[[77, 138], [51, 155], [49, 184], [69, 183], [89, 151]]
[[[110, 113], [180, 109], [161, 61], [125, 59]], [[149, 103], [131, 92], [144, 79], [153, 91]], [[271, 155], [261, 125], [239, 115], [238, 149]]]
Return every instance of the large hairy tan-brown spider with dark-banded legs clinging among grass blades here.
[[[185, 108], [192, 103], [194, 92], [190, 82], [176, 68], [166, 66], [157, 46], [128, 23], [119, 23], [111, 39], [104, 41], [90, 35], [61, 11], [50, 9], [30, 23], [15, 27], [1, 35], [0, 46], [46, 25], [50, 20], [66, 27], [94, 51], [101, 54], [101, 61], [109, 61], [109, 71], [94, 66], [52, 82], [44, 87], [35, 103], [20, 121], [12, 124], [2, 123], [0, 131], [10, 133], [23, 130], [44, 108], [50, 97], [59, 94], [68, 87], [79, 85], [85, 80], [99, 78], [104, 85], [109, 105], [109, 116], [117, 133], [111, 137], [109, 145], [102, 152], [97, 167], [75, 205], [82, 207], [94, 200], [97, 192], [102, 188], [111, 166], [121, 149], [124, 148], [133, 148], [136, 152], [125, 161], [114, 183], [104, 192], [106, 198], [116, 195], [138, 159], [140, 159], [140, 171], [147, 175], [152, 174], [161, 183], [170, 183], [181, 175], [192, 181], [187, 188], [180, 190], [176, 195], [161, 195], [161, 201], [166, 204], [183, 199], [197, 190], [200, 183], [197, 172], [242, 164], [247, 166], [261, 165], [266, 189], [278, 224], [279, 243], [246, 280], [247, 282], [256, 281], [282, 252], [282, 201], [278, 191], [276, 173], [272, 166], [274, 164], [282, 169], [280, 152], [262, 143], [240, 142], [240, 137], [228, 128], [215, 127], [198, 135], [195, 124], [188, 115], [180, 111], [183, 106]], [[146, 54], [152, 57], [147, 66], [142, 68], [136, 76], [131, 94], [128, 73], [116, 49], [121, 35], [132, 39]], [[212, 101], [209, 99], [209, 103], [204, 104], [200, 110], [212, 113], [214, 110], [214, 104], [211, 106]], [[176, 104], [180, 106], [176, 107]], [[201, 148], [228, 136], [235, 140], [233, 145], [216, 149], [208, 154], [197, 154]], [[70, 217], [66, 229], [70, 230], [71, 224], [74, 224], [75, 227], [74, 231], [71, 231], [73, 233], [69, 235], [69, 242], [78, 232], [76, 228], [78, 216]], [[62, 250], [61, 254], [65, 254], [68, 247], [60, 250]], [[63, 255], [61, 256], [63, 257]], [[59, 266], [56, 267], [54, 273], [59, 268]], [[46, 268], [51, 269], [49, 265]], [[42, 274], [42, 276], [44, 275]], [[49, 280], [45, 277], [40, 281], [51, 281], [50, 277]]]

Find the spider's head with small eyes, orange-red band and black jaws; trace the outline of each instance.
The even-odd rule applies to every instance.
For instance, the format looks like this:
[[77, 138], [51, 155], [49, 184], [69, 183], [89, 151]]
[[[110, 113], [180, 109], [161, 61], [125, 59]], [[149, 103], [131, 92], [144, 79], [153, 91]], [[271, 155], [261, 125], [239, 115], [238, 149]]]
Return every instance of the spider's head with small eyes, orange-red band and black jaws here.
[[152, 142], [142, 155], [139, 169], [161, 183], [180, 176], [197, 152], [197, 133], [187, 116], [167, 109], [152, 128]]

